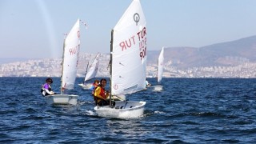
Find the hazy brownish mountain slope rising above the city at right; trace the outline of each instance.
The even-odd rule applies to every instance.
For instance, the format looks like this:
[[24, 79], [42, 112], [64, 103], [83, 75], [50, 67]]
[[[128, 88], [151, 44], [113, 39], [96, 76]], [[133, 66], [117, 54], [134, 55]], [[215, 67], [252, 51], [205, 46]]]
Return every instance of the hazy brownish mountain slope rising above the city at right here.
[[[148, 64], [157, 63], [160, 50], [148, 51]], [[178, 69], [198, 66], [236, 66], [256, 61], [256, 36], [202, 47], [166, 47], [165, 63]]]

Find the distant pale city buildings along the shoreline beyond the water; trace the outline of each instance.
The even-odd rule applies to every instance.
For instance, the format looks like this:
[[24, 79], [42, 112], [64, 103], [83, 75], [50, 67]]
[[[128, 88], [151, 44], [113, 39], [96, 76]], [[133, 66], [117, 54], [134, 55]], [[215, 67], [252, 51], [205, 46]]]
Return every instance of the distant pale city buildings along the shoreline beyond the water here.
[[[156, 54], [156, 53], [155, 53]], [[82, 61], [78, 63], [78, 77], [84, 78], [86, 62], [90, 54], [81, 54]], [[97, 78], [108, 78], [107, 70], [109, 54], [102, 54]], [[0, 77], [61, 77], [61, 58], [45, 58], [27, 60], [26, 62], [12, 62], [0, 65]], [[148, 63], [147, 78], [156, 77], [157, 63]], [[196, 66], [179, 69], [172, 66], [171, 61], [164, 66], [163, 78], [256, 78], [256, 63], [244, 61], [237, 66]]]

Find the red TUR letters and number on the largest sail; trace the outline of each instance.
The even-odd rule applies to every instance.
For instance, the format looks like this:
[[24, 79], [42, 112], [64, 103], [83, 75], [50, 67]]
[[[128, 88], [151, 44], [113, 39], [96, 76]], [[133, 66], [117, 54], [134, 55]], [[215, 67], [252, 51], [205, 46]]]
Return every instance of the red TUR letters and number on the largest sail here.
[[[135, 37], [137, 35], [137, 37]], [[130, 48], [136, 44], [136, 38], [139, 42], [139, 50], [141, 59], [146, 56], [146, 27], [140, 30], [137, 34], [131, 36], [128, 40], [122, 41], [119, 43], [119, 46], [123, 50], [127, 50], [127, 47]]]

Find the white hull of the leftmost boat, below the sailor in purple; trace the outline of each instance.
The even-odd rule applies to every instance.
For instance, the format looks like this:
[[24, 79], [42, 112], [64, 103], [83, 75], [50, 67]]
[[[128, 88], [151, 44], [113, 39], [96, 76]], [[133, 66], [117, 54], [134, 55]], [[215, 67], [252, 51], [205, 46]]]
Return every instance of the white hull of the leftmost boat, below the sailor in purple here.
[[54, 94], [45, 96], [49, 105], [77, 105], [78, 95]]

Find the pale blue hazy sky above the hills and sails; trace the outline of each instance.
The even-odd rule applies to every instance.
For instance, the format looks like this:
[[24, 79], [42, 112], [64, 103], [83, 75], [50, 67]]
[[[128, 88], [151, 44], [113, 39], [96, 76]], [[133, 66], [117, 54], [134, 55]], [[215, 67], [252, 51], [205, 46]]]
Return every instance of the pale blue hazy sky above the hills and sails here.
[[[78, 18], [81, 51], [109, 53], [110, 33], [132, 0], [0, 0], [0, 58], [62, 56]], [[256, 35], [256, 0], [141, 0], [147, 50], [206, 46]]]

